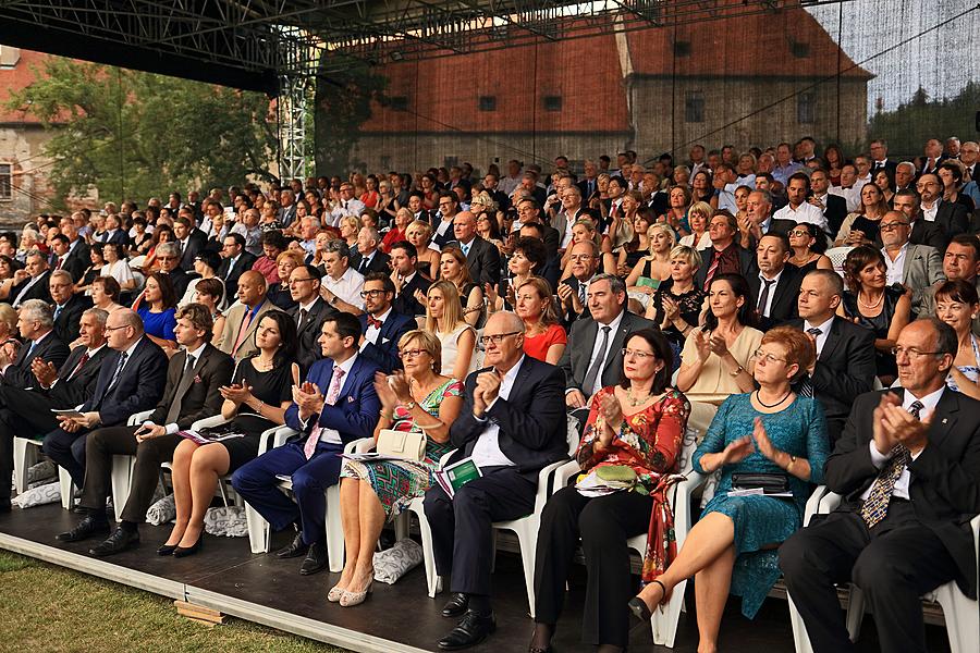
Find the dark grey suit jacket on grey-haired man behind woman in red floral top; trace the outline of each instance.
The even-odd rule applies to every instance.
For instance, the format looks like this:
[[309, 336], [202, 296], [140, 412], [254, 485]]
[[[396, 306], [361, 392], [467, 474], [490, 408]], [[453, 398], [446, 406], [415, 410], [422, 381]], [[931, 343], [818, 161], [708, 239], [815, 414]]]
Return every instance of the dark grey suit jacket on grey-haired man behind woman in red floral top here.
[[[616, 332], [610, 333], [612, 344], [605, 353], [605, 361], [600, 374], [602, 386], [615, 385], [623, 374], [623, 347], [626, 337], [640, 329], [656, 329], [656, 324], [646, 318], [624, 310], [623, 319]], [[577, 320], [568, 334], [568, 346], [565, 347], [559, 367], [565, 372], [565, 390], [581, 391], [586, 398], [591, 396], [589, 390], [583, 389], [585, 377], [589, 371], [589, 358], [592, 356], [592, 344], [601, 337], [599, 323], [591, 317]], [[564, 405], [564, 402], [562, 402]]]

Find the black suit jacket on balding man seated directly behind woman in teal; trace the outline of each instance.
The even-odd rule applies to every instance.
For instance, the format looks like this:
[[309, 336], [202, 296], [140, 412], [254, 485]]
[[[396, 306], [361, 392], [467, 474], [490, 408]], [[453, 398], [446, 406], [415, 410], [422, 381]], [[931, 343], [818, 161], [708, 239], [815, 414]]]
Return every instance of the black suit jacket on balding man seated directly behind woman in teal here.
[[[795, 319], [787, 324], [803, 329], [804, 321]], [[832, 444], [841, 436], [854, 398], [870, 392], [874, 374], [874, 332], [835, 317], [810, 379]]]

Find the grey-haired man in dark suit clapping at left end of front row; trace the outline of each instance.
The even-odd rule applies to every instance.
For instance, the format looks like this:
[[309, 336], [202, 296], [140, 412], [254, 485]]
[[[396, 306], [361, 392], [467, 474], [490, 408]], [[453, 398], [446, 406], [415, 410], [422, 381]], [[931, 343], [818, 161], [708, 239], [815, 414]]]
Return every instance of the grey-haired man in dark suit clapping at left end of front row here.
[[[35, 382], [29, 389], [0, 386], [0, 479], [13, 471], [13, 439], [37, 438], [58, 428], [52, 408], [71, 408], [91, 396], [99, 367], [108, 355], [106, 318], [109, 313], [93, 308], [79, 318], [82, 344], [57, 366], [34, 358], [30, 370]], [[60, 369], [59, 369], [60, 368]], [[0, 483], [0, 512], [10, 507], [10, 483]]]

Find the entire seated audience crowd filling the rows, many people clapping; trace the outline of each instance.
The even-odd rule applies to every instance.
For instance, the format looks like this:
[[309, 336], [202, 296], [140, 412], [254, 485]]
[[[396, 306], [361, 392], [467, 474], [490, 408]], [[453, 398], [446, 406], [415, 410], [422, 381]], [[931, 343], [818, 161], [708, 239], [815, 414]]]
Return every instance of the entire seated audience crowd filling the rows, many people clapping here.
[[[457, 619], [438, 645], [458, 650], [494, 630], [492, 525], [534, 512], [539, 471], [574, 452], [540, 515], [530, 653], [551, 651], [579, 546], [581, 637], [603, 653], [689, 578], [698, 650], [715, 651], [727, 595], [751, 618], [781, 575], [814, 650], [853, 650], [834, 588], [852, 581], [883, 650], [921, 651], [922, 593], [977, 597], [977, 159], [956, 138], [897, 161], [883, 140], [848, 159], [805, 137], [625, 151], [578, 175], [565, 157], [547, 174], [464, 163], [38, 215], [0, 234], [0, 477], [14, 436], [42, 440], [77, 489], [58, 540], [108, 556], [138, 544], [169, 463], [176, 518], [156, 553], [183, 557], [230, 476], [293, 533], [275, 555], [304, 576], [328, 566], [339, 483], [346, 563], [324, 593], [344, 607], [370, 595], [384, 525], [421, 498]], [[234, 436], [191, 432], [215, 416]], [[260, 445], [281, 426], [294, 435]], [[678, 547], [685, 433], [718, 482]], [[341, 456], [392, 434], [419, 455]], [[111, 529], [117, 455], [135, 466]], [[456, 464], [471, 480], [437, 482]], [[818, 484], [843, 504], [804, 528]]]

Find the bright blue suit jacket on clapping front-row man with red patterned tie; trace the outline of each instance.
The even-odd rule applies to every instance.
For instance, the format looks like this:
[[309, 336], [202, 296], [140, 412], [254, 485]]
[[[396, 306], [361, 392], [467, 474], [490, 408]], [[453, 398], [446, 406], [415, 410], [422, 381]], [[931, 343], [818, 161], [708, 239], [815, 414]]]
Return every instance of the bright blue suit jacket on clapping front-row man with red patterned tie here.
[[[351, 368], [351, 373], [341, 382], [341, 394], [336, 404], [324, 405], [316, 423], [324, 429], [334, 429], [340, 433], [344, 444], [370, 438], [381, 410], [381, 399], [375, 392], [375, 372], [378, 371], [380, 371], [378, 366], [371, 360], [358, 356]], [[316, 361], [306, 375], [306, 380], [316, 385], [324, 396], [330, 392], [332, 379], [333, 360], [330, 358]], [[303, 428], [299, 423], [299, 407], [296, 404], [286, 408], [285, 420], [287, 427], [307, 435], [314, 424], [314, 420], [310, 419], [306, 428]]]

